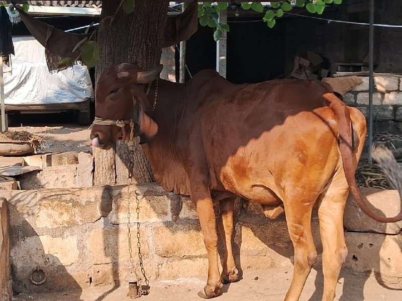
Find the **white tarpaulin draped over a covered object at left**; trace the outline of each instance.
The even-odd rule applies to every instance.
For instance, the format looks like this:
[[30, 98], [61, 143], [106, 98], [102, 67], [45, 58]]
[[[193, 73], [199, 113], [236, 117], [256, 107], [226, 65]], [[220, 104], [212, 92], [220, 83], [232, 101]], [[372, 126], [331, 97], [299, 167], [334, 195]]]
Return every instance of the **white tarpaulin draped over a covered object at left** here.
[[71, 103], [94, 97], [86, 66], [76, 64], [51, 74], [45, 48], [34, 37], [13, 37], [13, 43], [12, 75], [4, 78], [6, 105]]

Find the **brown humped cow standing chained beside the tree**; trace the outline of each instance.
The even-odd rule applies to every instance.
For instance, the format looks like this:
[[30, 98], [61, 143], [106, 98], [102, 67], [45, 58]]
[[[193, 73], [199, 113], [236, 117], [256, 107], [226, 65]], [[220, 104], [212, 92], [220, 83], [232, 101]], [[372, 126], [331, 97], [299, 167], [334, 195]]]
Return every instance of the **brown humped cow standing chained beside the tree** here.
[[[222, 282], [238, 280], [232, 234], [234, 199], [240, 196], [261, 204], [270, 217], [284, 208], [294, 246], [294, 273], [285, 300], [298, 300], [317, 260], [311, 231], [317, 203], [323, 300], [333, 300], [347, 255], [343, 212], [349, 187], [369, 216], [383, 222], [402, 220], [402, 213], [375, 216], [357, 188], [354, 172], [366, 135], [364, 116], [316, 80], [234, 85], [204, 70], [178, 84], [155, 81], [161, 69], [111, 66], [98, 81], [96, 115], [132, 119], [155, 179], [166, 191], [189, 195], [195, 203], [209, 259], [208, 281], [200, 295], [217, 296]], [[94, 124], [92, 144], [111, 148], [129, 130], [126, 125], [122, 134], [118, 126]], [[213, 199], [220, 200], [223, 219], [221, 275]]]

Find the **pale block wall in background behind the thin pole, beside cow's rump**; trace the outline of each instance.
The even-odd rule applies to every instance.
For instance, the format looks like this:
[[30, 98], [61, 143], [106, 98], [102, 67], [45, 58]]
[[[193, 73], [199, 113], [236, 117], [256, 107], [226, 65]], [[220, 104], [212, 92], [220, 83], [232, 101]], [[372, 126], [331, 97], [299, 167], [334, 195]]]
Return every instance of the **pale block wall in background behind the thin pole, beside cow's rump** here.
[[[347, 105], [357, 107], [366, 117], [368, 114], [368, 77], [344, 94]], [[373, 120], [402, 121], [401, 77], [374, 76]]]

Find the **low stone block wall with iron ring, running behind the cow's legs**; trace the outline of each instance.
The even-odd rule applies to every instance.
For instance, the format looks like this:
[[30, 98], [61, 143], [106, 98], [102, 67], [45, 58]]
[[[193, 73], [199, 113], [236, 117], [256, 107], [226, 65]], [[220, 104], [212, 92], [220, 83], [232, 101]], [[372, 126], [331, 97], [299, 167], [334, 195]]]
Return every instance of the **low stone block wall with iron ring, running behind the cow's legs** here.
[[[140, 243], [148, 278], [206, 277], [206, 249], [192, 203], [188, 198], [166, 193], [157, 184], [132, 185], [129, 191], [127, 186], [4, 190], [0, 191], [0, 197], [7, 198], [10, 208], [14, 291], [65, 291], [126, 283], [130, 270], [128, 212], [132, 256], [138, 264], [135, 192], [140, 194]], [[394, 215], [390, 208], [398, 208], [396, 191], [362, 192], [374, 209], [381, 209], [376, 209], [377, 213]], [[178, 210], [180, 204], [182, 208]], [[317, 213], [313, 216], [312, 228], [321, 253]], [[235, 220], [234, 252], [238, 267], [291, 266], [293, 247], [283, 216], [269, 220], [259, 206], [239, 200]], [[401, 288], [402, 223], [384, 225], [365, 219], [350, 199], [345, 228], [349, 248], [345, 268], [375, 273], [381, 283]], [[315, 268], [321, 269], [320, 260]], [[41, 270], [46, 271], [47, 280], [34, 285], [29, 280], [30, 274], [38, 274], [39, 282], [43, 277]]]

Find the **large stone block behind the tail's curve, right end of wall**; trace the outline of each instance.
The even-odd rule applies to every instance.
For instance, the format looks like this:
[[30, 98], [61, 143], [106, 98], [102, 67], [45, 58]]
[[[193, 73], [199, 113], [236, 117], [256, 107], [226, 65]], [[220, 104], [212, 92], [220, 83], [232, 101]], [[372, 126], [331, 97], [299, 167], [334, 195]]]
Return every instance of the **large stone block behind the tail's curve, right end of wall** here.
[[[362, 188], [360, 192], [369, 208], [379, 216], [393, 217], [399, 212], [400, 199], [396, 190]], [[377, 232], [398, 234], [402, 229], [402, 221], [396, 223], [380, 223], [368, 217], [349, 194], [345, 207], [344, 227], [347, 231]]]

